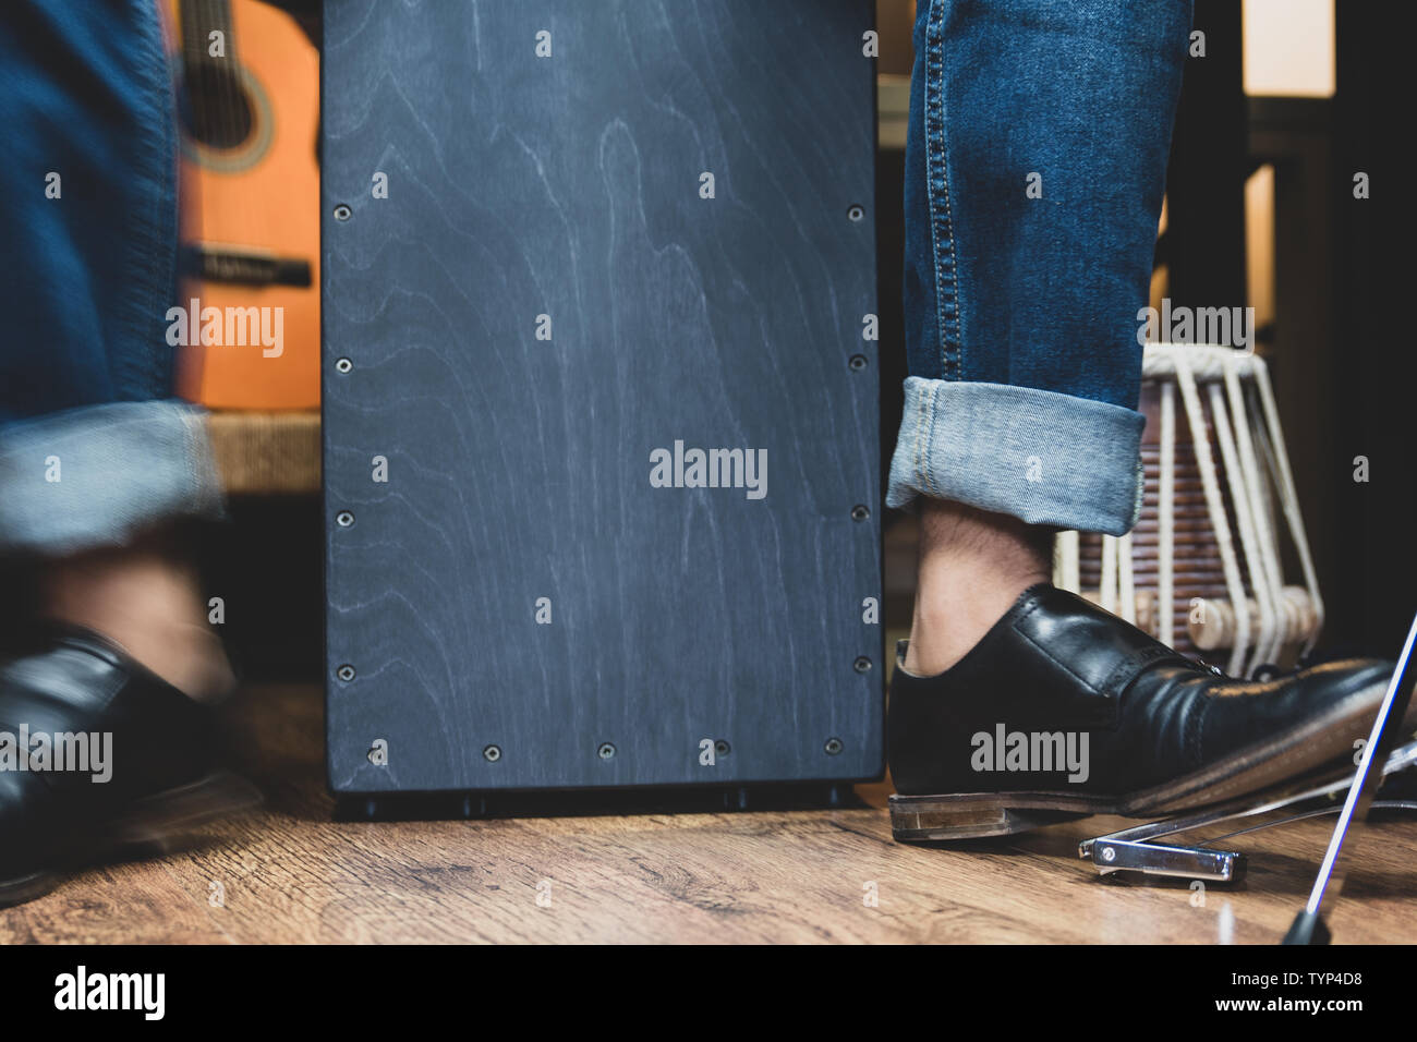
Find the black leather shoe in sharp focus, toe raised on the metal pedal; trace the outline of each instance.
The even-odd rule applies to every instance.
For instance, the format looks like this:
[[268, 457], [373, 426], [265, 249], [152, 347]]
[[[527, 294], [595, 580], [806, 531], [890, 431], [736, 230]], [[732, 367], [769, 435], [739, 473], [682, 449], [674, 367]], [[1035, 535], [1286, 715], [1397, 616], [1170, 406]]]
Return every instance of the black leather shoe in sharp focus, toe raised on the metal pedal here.
[[1268, 788], [1352, 758], [1393, 671], [1345, 659], [1236, 680], [1049, 584], [938, 676], [907, 673], [904, 646], [887, 719], [901, 841], [1161, 817]]

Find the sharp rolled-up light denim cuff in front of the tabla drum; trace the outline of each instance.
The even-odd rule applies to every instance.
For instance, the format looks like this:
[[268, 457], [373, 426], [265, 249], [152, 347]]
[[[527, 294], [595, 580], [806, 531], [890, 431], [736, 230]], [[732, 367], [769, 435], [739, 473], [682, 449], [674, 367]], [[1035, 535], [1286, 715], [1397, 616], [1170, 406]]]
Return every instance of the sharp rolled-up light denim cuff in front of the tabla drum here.
[[913, 376], [886, 503], [924, 495], [1119, 536], [1141, 513], [1145, 425], [1105, 401]]

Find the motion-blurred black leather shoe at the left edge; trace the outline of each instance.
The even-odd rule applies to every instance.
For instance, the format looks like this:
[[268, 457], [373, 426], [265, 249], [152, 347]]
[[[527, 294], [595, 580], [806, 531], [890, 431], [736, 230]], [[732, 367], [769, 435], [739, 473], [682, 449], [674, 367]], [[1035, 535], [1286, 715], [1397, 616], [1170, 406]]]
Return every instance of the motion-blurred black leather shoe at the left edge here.
[[214, 771], [211, 710], [67, 631], [0, 668], [0, 907], [109, 849], [259, 800]]

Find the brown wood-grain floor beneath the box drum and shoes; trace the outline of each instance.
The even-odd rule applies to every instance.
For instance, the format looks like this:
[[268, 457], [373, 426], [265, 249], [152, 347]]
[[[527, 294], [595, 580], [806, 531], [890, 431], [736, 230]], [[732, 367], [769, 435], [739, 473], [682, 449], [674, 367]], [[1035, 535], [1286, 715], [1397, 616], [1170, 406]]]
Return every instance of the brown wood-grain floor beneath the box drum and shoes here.
[[[320, 712], [315, 688], [247, 692], [231, 730], [265, 805], [0, 912], [0, 943], [1274, 943], [1329, 831], [1244, 836], [1243, 889], [1196, 893], [1080, 862], [1077, 841], [1118, 819], [969, 849], [894, 844], [884, 785], [846, 809], [336, 822]], [[1417, 821], [1363, 846], [1336, 940], [1417, 937], [1414, 853]]]

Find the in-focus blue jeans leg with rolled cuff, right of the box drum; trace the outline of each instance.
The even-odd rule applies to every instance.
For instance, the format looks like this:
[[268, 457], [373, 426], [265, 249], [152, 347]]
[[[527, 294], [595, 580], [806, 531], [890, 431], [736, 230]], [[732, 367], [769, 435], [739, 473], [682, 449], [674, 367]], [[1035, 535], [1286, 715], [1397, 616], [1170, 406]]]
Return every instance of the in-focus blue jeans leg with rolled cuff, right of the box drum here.
[[887, 503], [1121, 534], [1190, 0], [920, 0]]

